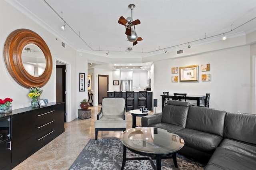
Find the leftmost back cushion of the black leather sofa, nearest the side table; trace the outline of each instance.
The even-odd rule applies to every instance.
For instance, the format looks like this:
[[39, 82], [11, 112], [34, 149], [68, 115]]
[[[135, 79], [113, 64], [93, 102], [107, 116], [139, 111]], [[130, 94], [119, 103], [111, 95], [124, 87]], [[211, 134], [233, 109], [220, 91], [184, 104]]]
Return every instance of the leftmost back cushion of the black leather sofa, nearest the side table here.
[[185, 128], [189, 106], [188, 102], [167, 101], [162, 113], [162, 122]]

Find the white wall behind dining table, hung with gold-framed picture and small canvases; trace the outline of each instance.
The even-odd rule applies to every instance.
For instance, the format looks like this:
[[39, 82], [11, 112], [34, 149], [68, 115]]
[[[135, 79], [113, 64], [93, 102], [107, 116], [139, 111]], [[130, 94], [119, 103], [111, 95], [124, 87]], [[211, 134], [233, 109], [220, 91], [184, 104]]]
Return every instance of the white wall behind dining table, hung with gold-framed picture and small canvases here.
[[[210, 63], [210, 71], [201, 72], [201, 64]], [[172, 83], [172, 67], [199, 65], [198, 82]], [[180, 71], [179, 71], [180, 72]], [[210, 81], [201, 81], [202, 73], [210, 73]], [[154, 99], [161, 111], [163, 91], [170, 93], [210, 95], [210, 107], [228, 112], [250, 113], [250, 45], [213, 51], [190, 57], [156, 61], [154, 63]], [[159, 102], [160, 101], [160, 102]], [[195, 102], [195, 101], [194, 101]]]

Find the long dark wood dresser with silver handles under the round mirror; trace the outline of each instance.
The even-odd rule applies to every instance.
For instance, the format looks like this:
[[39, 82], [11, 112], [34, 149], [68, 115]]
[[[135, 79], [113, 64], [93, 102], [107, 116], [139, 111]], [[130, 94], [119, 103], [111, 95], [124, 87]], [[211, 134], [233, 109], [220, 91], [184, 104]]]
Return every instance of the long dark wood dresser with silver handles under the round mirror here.
[[11, 163], [6, 167], [0, 164], [0, 169], [14, 168], [62, 134], [65, 131], [64, 107], [65, 103], [53, 102], [46, 107], [26, 107], [5, 114], [11, 118]]

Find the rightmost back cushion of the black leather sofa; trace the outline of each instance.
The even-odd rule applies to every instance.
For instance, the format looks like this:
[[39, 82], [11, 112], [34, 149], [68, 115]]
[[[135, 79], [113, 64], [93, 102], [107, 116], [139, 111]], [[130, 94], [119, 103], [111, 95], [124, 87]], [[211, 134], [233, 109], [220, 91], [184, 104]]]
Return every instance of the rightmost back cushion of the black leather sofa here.
[[227, 113], [224, 137], [256, 144], [256, 115]]

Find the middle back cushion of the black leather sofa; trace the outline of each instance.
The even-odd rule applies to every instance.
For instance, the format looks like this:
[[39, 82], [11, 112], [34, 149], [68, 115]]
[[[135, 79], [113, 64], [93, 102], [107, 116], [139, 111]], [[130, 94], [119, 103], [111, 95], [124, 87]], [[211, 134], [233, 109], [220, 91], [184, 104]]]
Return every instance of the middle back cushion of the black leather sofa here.
[[223, 136], [225, 111], [192, 106], [188, 111], [186, 128]]

